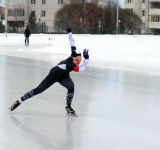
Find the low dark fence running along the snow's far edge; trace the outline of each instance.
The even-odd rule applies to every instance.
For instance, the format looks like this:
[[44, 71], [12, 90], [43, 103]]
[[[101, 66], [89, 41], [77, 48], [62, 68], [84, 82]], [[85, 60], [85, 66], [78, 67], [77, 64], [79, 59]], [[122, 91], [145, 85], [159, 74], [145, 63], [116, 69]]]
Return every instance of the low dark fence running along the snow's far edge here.
[[[23, 34], [25, 31], [25, 27], [10, 27], [8, 26], [5, 29], [7, 33], [21, 33]], [[35, 33], [44, 33], [44, 34], [66, 34], [65, 26], [37, 26], [33, 27], [30, 26], [29, 29], [31, 30], [32, 34]], [[1, 29], [0, 29], [1, 30]], [[72, 26], [72, 32], [74, 34], [116, 34], [115, 27], [101, 27], [98, 26], [87, 26], [87, 27], [77, 27]], [[119, 28], [119, 34], [141, 34], [140, 28], [135, 28], [130, 31], [126, 30], [125, 28]]]

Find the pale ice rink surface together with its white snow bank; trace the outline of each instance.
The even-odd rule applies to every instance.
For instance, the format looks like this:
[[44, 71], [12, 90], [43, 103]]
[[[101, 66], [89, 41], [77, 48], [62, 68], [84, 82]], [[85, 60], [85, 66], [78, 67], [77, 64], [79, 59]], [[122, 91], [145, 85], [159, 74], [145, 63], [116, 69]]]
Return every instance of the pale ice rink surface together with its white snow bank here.
[[0, 150], [159, 150], [160, 37], [73, 36], [90, 50], [86, 72], [71, 73], [77, 116], [58, 83], [8, 109], [70, 55], [67, 34], [32, 35], [29, 46], [0, 34]]

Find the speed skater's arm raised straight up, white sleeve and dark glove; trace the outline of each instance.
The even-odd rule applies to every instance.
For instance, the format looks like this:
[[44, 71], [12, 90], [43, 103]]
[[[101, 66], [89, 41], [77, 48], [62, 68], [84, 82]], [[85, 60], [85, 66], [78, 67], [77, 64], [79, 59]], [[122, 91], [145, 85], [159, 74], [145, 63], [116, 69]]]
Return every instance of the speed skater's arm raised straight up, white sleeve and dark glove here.
[[72, 52], [72, 51], [76, 50], [76, 45], [75, 45], [75, 41], [72, 37], [72, 31], [71, 31], [70, 25], [66, 26], [66, 31], [68, 33], [69, 42], [70, 42], [70, 45], [71, 45], [71, 52]]

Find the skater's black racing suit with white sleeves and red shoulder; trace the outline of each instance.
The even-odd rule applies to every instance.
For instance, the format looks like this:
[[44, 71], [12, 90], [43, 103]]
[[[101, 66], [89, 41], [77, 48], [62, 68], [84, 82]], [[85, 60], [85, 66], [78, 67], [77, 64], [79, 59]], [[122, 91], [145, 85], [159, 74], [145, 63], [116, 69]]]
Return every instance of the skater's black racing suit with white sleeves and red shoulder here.
[[[72, 37], [72, 33], [68, 33], [69, 41], [71, 45], [71, 52], [77, 51], [74, 39]], [[78, 51], [77, 51], [78, 53]], [[74, 83], [70, 78], [69, 72], [83, 72], [88, 64], [88, 59], [85, 59], [82, 66], [76, 66], [73, 63], [73, 58], [69, 57], [66, 60], [61, 61], [57, 66], [53, 67], [46, 78], [39, 84], [39, 86], [29, 92], [27, 92], [24, 96], [21, 97], [22, 101], [25, 101], [39, 93], [42, 93], [55, 82], [59, 82], [62, 86], [68, 89], [67, 92], [67, 105], [71, 105], [73, 96], [74, 96]]]

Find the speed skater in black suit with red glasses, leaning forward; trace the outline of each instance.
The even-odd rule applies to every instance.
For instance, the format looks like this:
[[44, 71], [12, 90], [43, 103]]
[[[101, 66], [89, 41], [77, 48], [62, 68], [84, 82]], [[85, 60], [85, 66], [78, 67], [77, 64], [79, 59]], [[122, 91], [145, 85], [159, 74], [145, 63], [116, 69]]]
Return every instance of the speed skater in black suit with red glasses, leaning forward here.
[[14, 102], [11, 106], [11, 111], [14, 111], [25, 100], [42, 93], [55, 82], [59, 82], [68, 90], [66, 96], [67, 106], [65, 107], [65, 109], [68, 113], [75, 114], [75, 111], [71, 107], [72, 99], [74, 96], [74, 83], [69, 73], [71, 71], [84, 72], [89, 61], [89, 54], [88, 50], [85, 49], [83, 51], [83, 57], [85, 58], [85, 60], [82, 66], [78, 66], [82, 59], [81, 53], [80, 51], [76, 50], [75, 42], [72, 37], [71, 27], [69, 25], [66, 26], [66, 31], [68, 32], [68, 37], [71, 45], [71, 56], [61, 61], [57, 66], [53, 67], [46, 78], [38, 85], [37, 88], [27, 92], [20, 99]]

